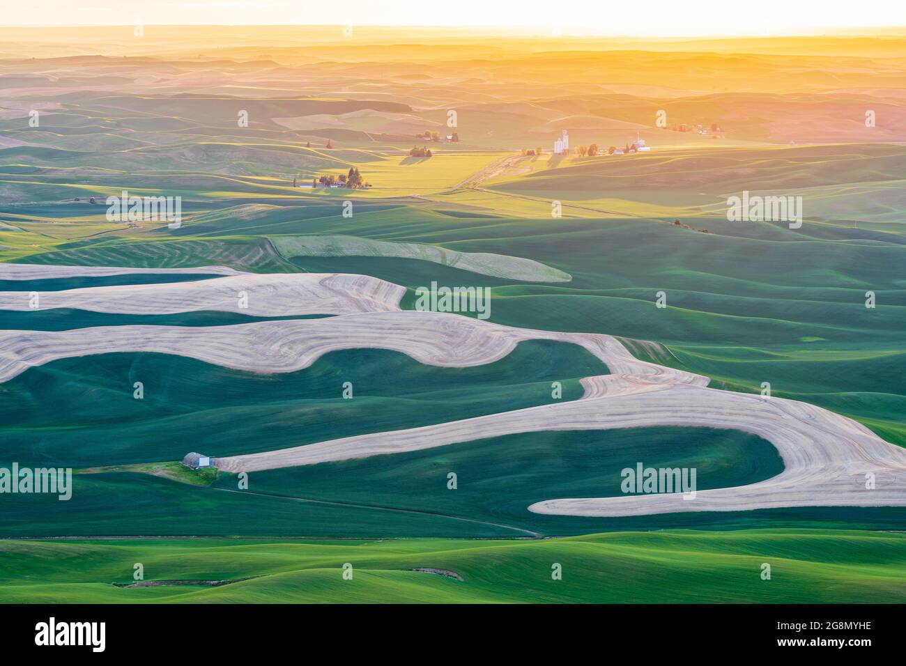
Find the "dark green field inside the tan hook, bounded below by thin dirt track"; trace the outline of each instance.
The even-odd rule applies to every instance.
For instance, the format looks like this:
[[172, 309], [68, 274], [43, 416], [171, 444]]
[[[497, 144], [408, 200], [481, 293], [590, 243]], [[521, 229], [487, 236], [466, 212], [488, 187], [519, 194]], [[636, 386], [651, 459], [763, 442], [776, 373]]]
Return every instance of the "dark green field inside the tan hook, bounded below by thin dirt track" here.
[[[783, 470], [776, 449], [766, 440], [733, 430], [576, 430], [506, 435], [392, 456], [255, 472], [249, 477], [249, 489], [462, 516], [545, 535], [576, 534], [634, 521], [545, 516], [527, 507], [553, 497], [620, 496], [622, 469], [635, 468], [639, 461], [655, 468], [696, 468], [699, 489], [742, 486]], [[447, 487], [450, 472], [457, 475], [455, 490]], [[215, 486], [235, 488], [236, 480], [220, 478]], [[671, 518], [676, 520], [660, 516], [668, 523]], [[401, 531], [396, 534], [410, 534], [405, 527], [397, 529]]]

